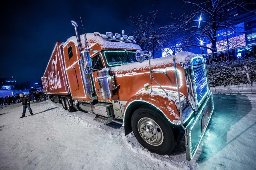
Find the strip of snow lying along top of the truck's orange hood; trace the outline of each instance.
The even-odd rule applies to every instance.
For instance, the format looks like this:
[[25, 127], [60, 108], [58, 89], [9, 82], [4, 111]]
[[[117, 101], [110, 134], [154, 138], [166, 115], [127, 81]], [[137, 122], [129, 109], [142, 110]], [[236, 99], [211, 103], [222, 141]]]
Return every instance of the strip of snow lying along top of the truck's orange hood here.
[[[170, 64], [173, 64], [173, 57], [176, 58], [176, 63], [179, 63], [181, 66], [184, 65], [184, 63], [190, 62], [190, 59], [192, 57], [195, 57], [196, 54], [190, 53], [190, 52], [180, 52], [177, 53], [175, 56], [170, 57], [162, 57], [157, 59], [151, 59], [151, 67], [154, 69], [161, 69], [161, 68], [169, 68]], [[149, 70], [149, 63], [148, 61], [144, 61], [143, 63], [130, 63], [125, 64], [121, 66], [112, 67], [111, 70], [114, 70], [114, 72], [117, 74], [136, 74], [136, 71], [146, 71]]]

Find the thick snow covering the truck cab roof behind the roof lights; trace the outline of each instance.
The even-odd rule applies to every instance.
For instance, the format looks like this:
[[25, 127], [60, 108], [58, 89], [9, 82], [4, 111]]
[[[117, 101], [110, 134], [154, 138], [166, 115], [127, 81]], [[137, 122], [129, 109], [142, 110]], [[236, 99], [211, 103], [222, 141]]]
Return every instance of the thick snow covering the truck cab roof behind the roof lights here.
[[[85, 39], [85, 35], [89, 44], [89, 47], [92, 48], [94, 45], [97, 43], [101, 46], [102, 49], [134, 49], [134, 50], [141, 50], [140, 46], [137, 44], [134, 44], [132, 41], [127, 40], [127, 41], [122, 41], [118, 39], [114, 39], [114, 41], [111, 41], [107, 39], [106, 35], [100, 34], [100, 33], [86, 33], [80, 35], [80, 39], [82, 42], [82, 47], [88, 47], [87, 42]], [[65, 43], [64, 46], [69, 42], [69, 41], [74, 41], [76, 45], [78, 45], [76, 36], [70, 37]], [[129, 42], [130, 41], [130, 42]]]

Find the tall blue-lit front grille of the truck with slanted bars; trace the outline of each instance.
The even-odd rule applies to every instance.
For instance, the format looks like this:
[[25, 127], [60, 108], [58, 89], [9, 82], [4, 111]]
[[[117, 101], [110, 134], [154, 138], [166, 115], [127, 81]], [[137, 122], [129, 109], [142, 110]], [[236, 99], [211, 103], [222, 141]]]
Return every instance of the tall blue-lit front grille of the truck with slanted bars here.
[[197, 105], [199, 106], [209, 91], [204, 59], [202, 57], [193, 58], [191, 61], [191, 68], [194, 81], [194, 93]]

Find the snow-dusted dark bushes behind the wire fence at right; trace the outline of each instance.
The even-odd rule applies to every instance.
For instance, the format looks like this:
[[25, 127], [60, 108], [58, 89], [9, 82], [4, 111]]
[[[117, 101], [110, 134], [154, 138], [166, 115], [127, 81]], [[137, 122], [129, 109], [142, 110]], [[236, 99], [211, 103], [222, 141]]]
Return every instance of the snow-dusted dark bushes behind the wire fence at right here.
[[256, 78], [256, 58], [207, 64], [210, 87], [232, 86], [248, 83], [244, 65], [247, 66], [251, 82]]

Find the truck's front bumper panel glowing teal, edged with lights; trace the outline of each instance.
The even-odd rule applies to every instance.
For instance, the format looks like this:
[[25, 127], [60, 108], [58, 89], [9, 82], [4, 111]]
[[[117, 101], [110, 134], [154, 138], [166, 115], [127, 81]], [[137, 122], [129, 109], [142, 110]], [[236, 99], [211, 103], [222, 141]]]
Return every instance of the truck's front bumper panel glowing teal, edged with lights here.
[[196, 154], [206, 131], [214, 109], [212, 93], [206, 98], [197, 115], [193, 117], [186, 126], [186, 159], [190, 161]]

